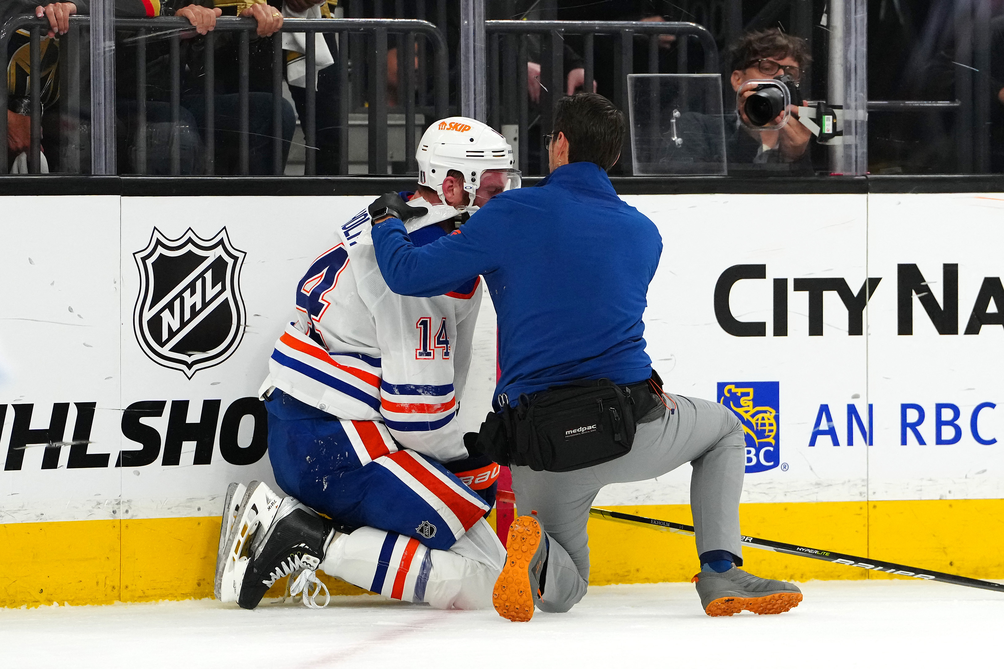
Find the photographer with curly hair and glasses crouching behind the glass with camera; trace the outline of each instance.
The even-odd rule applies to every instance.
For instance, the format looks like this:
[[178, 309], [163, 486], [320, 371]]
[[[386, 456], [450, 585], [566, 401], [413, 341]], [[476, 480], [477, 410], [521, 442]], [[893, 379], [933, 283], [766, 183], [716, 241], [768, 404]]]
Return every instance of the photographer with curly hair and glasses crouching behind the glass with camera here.
[[[777, 28], [743, 35], [731, 49], [732, 89], [738, 91], [750, 79], [774, 79], [787, 74], [797, 84], [802, 68], [810, 58], [805, 40], [781, 32]], [[726, 120], [726, 153], [729, 172], [745, 169], [781, 171], [788, 174], [812, 175], [809, 139], [812, 133], [798, 122], [798, 104], [805, 100], [792, 99], [788, 106], [791, 118], [783, 126], [772, 128], [781, 120], [778, 116], [763, 129], [750, 126], [743, 102], [752, 90], [742, 93], [732, 127]], [[767, 166], [771, 165], [771, 166]]]

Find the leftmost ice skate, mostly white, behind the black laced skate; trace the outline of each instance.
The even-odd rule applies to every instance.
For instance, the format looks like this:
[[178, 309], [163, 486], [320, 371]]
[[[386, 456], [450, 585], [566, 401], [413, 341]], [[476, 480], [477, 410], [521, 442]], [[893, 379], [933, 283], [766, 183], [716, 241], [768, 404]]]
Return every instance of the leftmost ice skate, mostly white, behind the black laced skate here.
[[[247, 568], [248, 553], [255, 537], [262, 538], [268, 530], [279, 509], [282, 496], [274, 492], [265, 483], [253, 480], [244, 490], [241, 497], [238, 490], [243, 487], [231, 485], [227, 490], [227, 507], [224, 511], [224, 523], [229, 525], [227, 538], [219, 549], [216, 564], [216, 597], [221, 602], [236, 602], [244, 580], [244, 570]], [[240, 503], [236, 500], [240, 498]], [[231, 521], [227, 517], [232, 517]]]

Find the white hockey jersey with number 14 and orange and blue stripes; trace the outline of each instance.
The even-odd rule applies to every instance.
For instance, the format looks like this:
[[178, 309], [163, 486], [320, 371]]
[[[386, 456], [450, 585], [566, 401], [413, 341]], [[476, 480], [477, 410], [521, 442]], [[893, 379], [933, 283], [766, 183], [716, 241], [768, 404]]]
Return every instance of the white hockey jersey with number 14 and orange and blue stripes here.
[[[407, 226], [416, 245], [445, 235], [455, 212], [427, 207]], [[447, 462], [467, 456], [455, 419], [481, 306], [480, 278], [439, 297], [406, 297], [384, 281], [363, 210], [296, 286], [296, 320], [275, 343], [261, 395], [279, 388], [339, 418], [380, 420], [404, 447]]]

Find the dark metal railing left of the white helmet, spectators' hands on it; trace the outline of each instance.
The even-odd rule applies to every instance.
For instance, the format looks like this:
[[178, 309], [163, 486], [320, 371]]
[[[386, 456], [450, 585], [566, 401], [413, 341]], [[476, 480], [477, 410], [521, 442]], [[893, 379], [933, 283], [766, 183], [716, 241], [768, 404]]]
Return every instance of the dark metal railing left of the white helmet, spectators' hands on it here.
[[[67, 123], [70, 136], [67, 142], [70, 146], [80, 145], [80, 43], [81, 28], [89, 26], [89, 17], [74, 16], [70, 19], [69, 32], [62, 37], [65, 39], [67, 48], [65, 49], [65, 60], [60, 63], [60, 80], [64, 84], [62, 91], [67, 95], [67, 113], [70, 121]], [[216, 30], [208, 33], [204, 39], [205, 63], [204, 63], [204, 95], [206, 101], [204, 144], [205, 144], [205, 164], [206, 174], [213, 174], [214, 145], [216, 135], [216, 63], [215, 63], [215, 35], [219, 32], [238, 32], [238, 96], [239, 96], [239, 174], [247, 175], [249, 168], [249, 79], [250, 79], [250, 56], [249, 43], [250, 35], [256, 30], [257, 24], [250, 18], [224, 17], [217, 19]], [[9, 19], [0, 28], [0, 53], [6, 54], [8, 43], [13, 34], [21, 29], [27, 28], [29, 31], [30, 44], [30, 71], [39, 72], [41, 68], [40, 43], [41, 35], [48, 29], [48, 22], [44, 19], [37, 19], [34, 16], [21, 16]], [[155, 31], [156, 30], [156, 34]], [[137, 65], [137, 126], [139, 144], [137, 147], [137, 172], [144, 174], [147, 169], [148, 146], [147, 146], [147, 45], [151, 39], [159, 39], [167, 33], [170, 40], [170, 109], [172, 121], [172, 141], [170, 143], [171, 173], [180, 174], [181, 147], [178, 140], [179, 124], [181, 119], [181, 41], [184, 33], [191, 30], [191, 24], [181, 17], [159, 17], [149, 19], [115, 19], [116, 33], [129, 31], [137, 34], [136, 40], [136, 65]], [[306, 82], [315, 80], [316, 54], [315, 54], [315, 34], [335, 33], [338, 38], [338, 58], [330, 65], [336, 67], [338, 73], [338, 86], [341, 91], [350, 90], [349, 54], [360, 53], [360, 37], [366, 38], [370, 42], [365, 60], [367, 66], [364, 68], [367, 79], [367, 107], [368, 114], [368, 170], [371, 174], [387, 173], [388, 155], [388, 104], [387, 104], [387, 68], [385, 63], [388, 57], [388, 35], [403, 35], [402, 48], [398, 51], [399, 63], [412, 63], [416, 56], [419, 57], [419, 68], [400, 67], [400, 85], [402, 92], [399, 97], [404, 101], [402, 107], [405, 117], [412, 122], [405, 124], [405, 153], [408, 156], [408, 170], [417, 170], [415, 166], [415, 146], [416, 134], [414, 119], [416, 116], [416, 79], [430, 68], [426, 65], [425, 40], [431, 46], [433, 52], [433, 92], [432, 104], [429, 105], [428, 112], [436, 117], [447, 115], [449, 96], [449, 65], [447, 42], [442, 32], [428, 21], [410, 19], [286, 19], [279, 32], [271, 37], [263, 38], [272, 41], [271, 60], [271, 136], [272, 136], [272, 172], [275, 175], [282, 174], [282, 81], [283, 81], [283, 49], [282, 33], [305, 33], [306, 35]], [[416, 51], [416, 38], [421, 37], [424, 41]], [[62, 58], [62, 56], [61, 56]], [[363, 68], [359, 62], [352, 63], [354, 68], [351, 84], [358, 84], [363, 78]], [[419, 75], [419, 77], [416, 76]], [[425, 81], [419, 91], [419, 101], [428, 101], [430, 97], [425, 90]], [[41, 90], [38, 76], [30, 77], [30, 116], [31, 116], [31, 145], [28, 151], [28, 171], [31, 174], [38, 174], [40, 165], [41, 149]], [[8, 89], [7, 86], [0, 86], [0, 108], [7, 107]], [[307, 85], [305, 89], [305, 118], [301, 119], [305, 136], [305, 166], [304, 172], [310, 176], [315, 174], [316, 162], [316, 91], [312, 85]], [[339, 163], [340, 173], [347, 173], [347, 151], [348, 151], [348, 113], [351, 99], [348, 95], [342, 94], [339, 97], [338, 109], [338, 131], [340, 133], [339, 142]], [[114, 114], [115, 109], [99, 110], [103, 113]], [[97, 115], [88, 114], [88, 115]], [[7, 115], [0, 114], [0, 137], [7, 136]], [[7, 173], [8, 152], [7, 142], [3, 141], [0, 148], [0, 174]], [[75, 172], [79, 172], [79, 153], [77, 154], [77, 164]], [[70, 165], [72, 169], [74, 165]]]

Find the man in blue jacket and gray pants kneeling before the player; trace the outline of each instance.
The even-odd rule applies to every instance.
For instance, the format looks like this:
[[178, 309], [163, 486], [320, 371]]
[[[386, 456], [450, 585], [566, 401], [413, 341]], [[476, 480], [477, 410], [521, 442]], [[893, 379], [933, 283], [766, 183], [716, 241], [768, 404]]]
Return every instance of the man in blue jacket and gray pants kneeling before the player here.
[[[441, 295], [484, 276], [498, 314], [496, 409], [572, 381], [631, 386], [652, 375], [642, 317], [663, 243], [606, 176], [623, 141], [623, 115], [604, 97], [579, 93], [558, 100], [553, 128], [550, 176], [536, 188], [496, 196], [458, 233], [416, 247], [400, 219], [378, 220], [372, 231], [378, 264], [396, 293]], [[795, 586], [737, 567], [745, 468], [738, 418], [721, 404], [667, 393], [639, 419], [625, 455], [574, 471], [512, 467], [517, 508], [538, 515], [510, 529], [510, 560], [495, 587], [499, 613], [529, 620], [534, 605], [570, 609], [588, 583], [585, 527], [599, 489], [655, 478], [685, 462], [694, 467], [697, 589], [705, 611], [780, 613], [796, 606]]]

